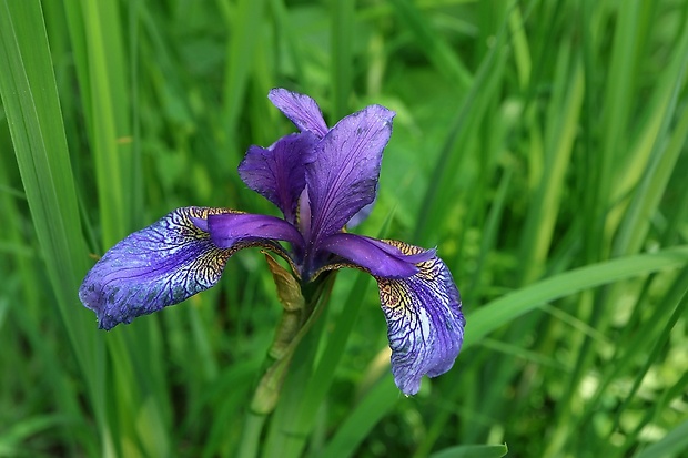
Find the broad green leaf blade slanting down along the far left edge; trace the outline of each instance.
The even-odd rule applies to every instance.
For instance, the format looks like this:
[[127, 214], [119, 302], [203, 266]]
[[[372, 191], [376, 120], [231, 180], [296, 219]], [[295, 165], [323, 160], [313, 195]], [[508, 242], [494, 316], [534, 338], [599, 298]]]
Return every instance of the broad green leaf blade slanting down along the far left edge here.
[[39, 246], [62, 324], [98, 419], [102, 455], [112, 455], [104, 393], [103, 345], [77, 291], [87, 271], [62, 113], [38, 1], [0, 3], [0, 92]]

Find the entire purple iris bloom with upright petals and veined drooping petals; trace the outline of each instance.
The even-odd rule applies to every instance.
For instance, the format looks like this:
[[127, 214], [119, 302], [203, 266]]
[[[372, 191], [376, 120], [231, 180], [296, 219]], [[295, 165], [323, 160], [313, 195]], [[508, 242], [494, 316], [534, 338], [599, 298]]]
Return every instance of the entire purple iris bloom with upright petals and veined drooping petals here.
[[301, 132], [266, 149], [251, 146], [239, 174], [284, 218], [174, 210], [110, 248], [79, 297], [95, 312], [99, 327], [111, 329], [215, 285], [230, 256], [245, 247], [282, 256], [302, 284], [327, 271], [360, 268], [380, 287], [395, 383], [416, 394], [423, 375], [452, 367], [463, 343], [465, 319], [452, 274], [434, 250], [344, 231], [375, 200], [395, 113], [370, 105], [328, 129], [307, 95], [274, 89], [269, 98]]

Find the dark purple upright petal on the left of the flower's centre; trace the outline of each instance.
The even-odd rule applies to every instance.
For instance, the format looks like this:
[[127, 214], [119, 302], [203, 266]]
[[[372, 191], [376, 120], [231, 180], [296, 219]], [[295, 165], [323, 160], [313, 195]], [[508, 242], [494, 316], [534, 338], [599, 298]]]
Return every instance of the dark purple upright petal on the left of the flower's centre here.
[[290, 223], [294, 223], [299, 196], [306, 185], [305, 161], [316, 142], [310, 132], [286, 135], [269, 149], [251, 146], [239, 164], [246, 186], [275, 204]]

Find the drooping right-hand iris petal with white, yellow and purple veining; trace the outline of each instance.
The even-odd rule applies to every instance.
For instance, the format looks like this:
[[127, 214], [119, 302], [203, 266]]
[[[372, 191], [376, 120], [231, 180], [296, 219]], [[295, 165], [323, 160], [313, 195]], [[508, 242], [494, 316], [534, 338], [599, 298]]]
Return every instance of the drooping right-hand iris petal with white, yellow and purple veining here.
[[[387, 241], [404, 253], [423, 248]], [[464, 342], [466, 320], [458, 289], [438, 257], [418, 264], [408, 278], [376, 277], [387, 320], [394, 381], [405, 395], [415, 395], [424, 375], [435, 377], [454, 365]]]

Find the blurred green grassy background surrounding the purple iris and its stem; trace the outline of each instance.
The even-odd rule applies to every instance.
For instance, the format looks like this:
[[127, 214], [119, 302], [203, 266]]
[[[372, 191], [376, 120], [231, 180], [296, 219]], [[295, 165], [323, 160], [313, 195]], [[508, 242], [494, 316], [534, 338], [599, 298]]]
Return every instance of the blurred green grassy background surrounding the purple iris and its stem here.
[[404, 398], [374, 281], [340, 273], [259, 455], [685, 454], [687, 24], [685, 0], [0, 1], [0, 456], [236, 456], [281, 314], [260, 253], [110, 333], [77, 291], [174, 207], [274, 213], [236, 174], [294, 130], [274, 86], [330, 124], [397, 112], [355, 231], [437, 246], [467, 327]]

